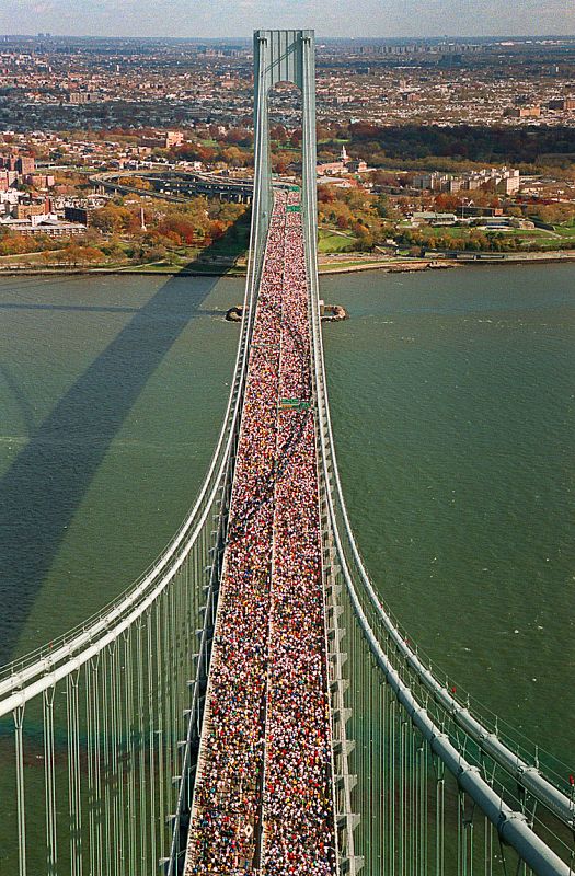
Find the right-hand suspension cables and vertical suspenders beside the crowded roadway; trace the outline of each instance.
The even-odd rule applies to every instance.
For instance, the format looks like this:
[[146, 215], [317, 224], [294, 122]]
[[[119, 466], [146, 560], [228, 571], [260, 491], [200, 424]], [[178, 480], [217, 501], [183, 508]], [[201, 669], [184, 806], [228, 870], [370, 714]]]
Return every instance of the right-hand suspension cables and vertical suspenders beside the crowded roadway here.
[[486, 873], [575, 872], [566, 768], [543, 771], [536, 746], [506, 738], [502, 722], [458, 693], [412, 644], [367, 573], [337, 469], [317, 286], [311, 299], [325, 527], [355, 740], [352, 800], [361, 818], [356, 851], [373, 876], [463, 873], [473, 862]]

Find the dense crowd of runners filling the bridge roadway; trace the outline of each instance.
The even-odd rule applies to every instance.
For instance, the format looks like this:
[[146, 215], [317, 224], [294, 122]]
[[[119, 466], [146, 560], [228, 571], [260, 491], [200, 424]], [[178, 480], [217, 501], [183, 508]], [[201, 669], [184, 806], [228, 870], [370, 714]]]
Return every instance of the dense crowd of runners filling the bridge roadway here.
[[311, 395], [298, 204], [268, 232], [186, 876], [335, 873], [314, 422], [280, 404]]

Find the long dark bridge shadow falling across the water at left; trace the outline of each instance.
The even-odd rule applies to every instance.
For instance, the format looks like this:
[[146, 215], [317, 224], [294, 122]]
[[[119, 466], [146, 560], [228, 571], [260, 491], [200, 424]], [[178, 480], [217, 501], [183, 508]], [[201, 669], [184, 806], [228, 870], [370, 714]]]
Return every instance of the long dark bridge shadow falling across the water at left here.
[[[244, 215], [204, 251], [204, 257], [227, 252], [229, 240], [238, 240], [237, 226], [246, 221]], [[223, 266], [222, 274], [231, 266]], [[198, 261], [185, 267], [202, 268], [206, 265]], [[205, 277], [198, 283], [195, 277], [171, 277], [139, 309], [127, 309], [134, 314], [129, 322], [39, 427], [31, 426], [18, 383], [2, 369], [21, 404], [30, 441], [0, 481], [0, 666], [14, 654], [67, 527], [114, 437], [189, 321], [214, 312], [203, 310], [202, 303], [218, 279]], [[22, 308], [36, 309], [27, 303]]]

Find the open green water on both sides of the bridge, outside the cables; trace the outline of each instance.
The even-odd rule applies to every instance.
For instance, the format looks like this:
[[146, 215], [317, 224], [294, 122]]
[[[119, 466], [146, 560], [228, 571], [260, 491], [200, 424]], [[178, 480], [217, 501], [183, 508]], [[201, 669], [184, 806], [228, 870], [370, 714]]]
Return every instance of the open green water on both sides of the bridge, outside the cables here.
[[[575, 761], [575, 269], [322, 279], [349, 511], [372, 577], [446, 672]], [[158, 554], [223, 413], [241, 280], [0, 280], [2, 656]]]

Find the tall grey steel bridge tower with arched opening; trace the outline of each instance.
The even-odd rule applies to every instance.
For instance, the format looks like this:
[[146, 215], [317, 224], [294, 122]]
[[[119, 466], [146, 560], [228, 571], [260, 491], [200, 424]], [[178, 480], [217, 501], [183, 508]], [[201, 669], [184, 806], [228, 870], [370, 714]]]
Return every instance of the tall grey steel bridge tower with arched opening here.
[[[312, 293], [318, 292], [318, 195], [315, 148], [315, 36], [313, 31], [255, 31], [254, 33], [254, 239], [252, 252], [265, 250], [272, 210], [268, 101], [279, 82], [292, 82], [301, 92], [302, 205], [306, 258]], [[260, 266], [256, 266], [258, 268]]]

